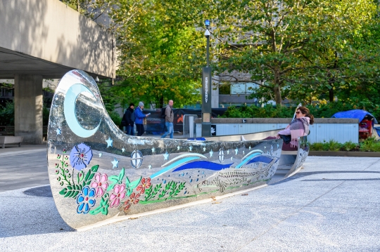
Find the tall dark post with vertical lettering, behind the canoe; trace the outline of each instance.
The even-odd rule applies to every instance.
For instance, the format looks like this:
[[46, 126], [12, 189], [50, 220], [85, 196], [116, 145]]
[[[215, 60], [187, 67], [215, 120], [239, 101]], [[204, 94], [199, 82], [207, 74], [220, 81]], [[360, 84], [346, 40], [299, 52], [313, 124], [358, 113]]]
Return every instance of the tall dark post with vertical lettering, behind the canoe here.
[[207, 66], [202, 69], [202, 136], [211, 136], [211, 67], [210, 67], [210, 20], [205, 20], [207, 39]]

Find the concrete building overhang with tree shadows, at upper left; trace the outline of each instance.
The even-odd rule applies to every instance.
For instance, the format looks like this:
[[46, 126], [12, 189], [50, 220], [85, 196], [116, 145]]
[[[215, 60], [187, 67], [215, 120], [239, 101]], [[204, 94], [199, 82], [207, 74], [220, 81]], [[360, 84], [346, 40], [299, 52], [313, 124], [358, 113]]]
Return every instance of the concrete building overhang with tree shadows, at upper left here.
[[0, 0], [0, 79], [60, 79], [71, 69], [115, 78], [115, 37], [58, 0]]

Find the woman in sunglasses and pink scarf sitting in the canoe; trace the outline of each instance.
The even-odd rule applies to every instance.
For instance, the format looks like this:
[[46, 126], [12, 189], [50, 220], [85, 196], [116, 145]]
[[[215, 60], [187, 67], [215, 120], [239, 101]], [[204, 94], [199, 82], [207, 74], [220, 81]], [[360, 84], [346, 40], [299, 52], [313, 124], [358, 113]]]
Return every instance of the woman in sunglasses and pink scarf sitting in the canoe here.
[[289, 143], [291, 147], [298, 147], [298, 138], [309, 135], [309, 126], [314, 124], [314, 117], [310, 114], [307, 107], [298, 107], [296, 110], [296, 119], [294, 119], [286, 128], [279, 131], [277, 138], [284, 139], [284, 143]]

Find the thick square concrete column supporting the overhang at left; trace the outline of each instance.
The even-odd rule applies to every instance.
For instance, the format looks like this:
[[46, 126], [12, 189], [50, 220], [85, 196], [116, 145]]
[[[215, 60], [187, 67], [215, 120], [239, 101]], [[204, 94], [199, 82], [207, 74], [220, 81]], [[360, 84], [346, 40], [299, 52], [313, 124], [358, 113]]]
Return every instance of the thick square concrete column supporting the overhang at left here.
[[42, 144], [42, 75], [15, 75], [15, 135]]

